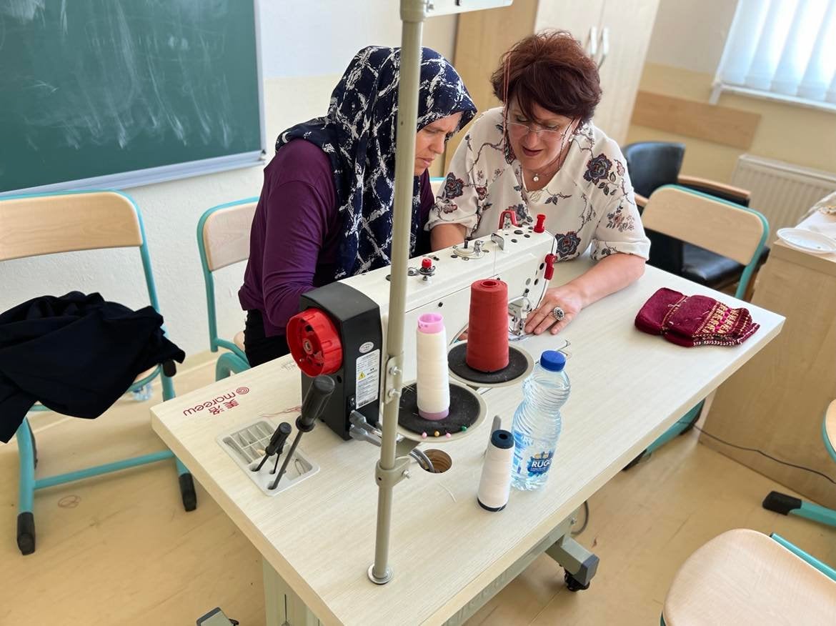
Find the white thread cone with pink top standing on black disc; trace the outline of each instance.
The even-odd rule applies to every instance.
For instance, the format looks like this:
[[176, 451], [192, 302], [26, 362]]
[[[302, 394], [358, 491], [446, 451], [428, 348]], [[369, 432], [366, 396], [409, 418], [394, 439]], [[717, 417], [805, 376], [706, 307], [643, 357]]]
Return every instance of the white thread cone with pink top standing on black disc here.
[[415, 394], [418, 415], [425, 420], [443, 420], [450, 414], [450, 375], [447, 369], [447, 332], [440, 313], [424, 313], [415, 332], [418, 344], [418, 374]]

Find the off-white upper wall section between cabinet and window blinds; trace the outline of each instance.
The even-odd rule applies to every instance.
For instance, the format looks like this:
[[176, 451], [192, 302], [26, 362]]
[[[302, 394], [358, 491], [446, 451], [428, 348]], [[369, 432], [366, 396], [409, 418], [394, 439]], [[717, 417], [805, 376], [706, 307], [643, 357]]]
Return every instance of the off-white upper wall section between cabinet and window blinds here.
[[737, 2], [660, 0], [647, 62], [714, 74]]

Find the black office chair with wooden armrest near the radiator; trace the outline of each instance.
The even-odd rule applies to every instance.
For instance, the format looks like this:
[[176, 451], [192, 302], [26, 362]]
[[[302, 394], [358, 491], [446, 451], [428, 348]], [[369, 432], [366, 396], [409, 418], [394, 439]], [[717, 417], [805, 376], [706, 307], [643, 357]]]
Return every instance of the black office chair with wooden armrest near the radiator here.
[[[623, 152], [639, 211], [644, 209], [650, 194], [663, 185], [681, 185], [709, 196], [749, 206], [749, 192], [746, 190], [695, 176], [682, 176], [680, 169], [685, 156], [684, 144], [640, 141], [625, 145]], [[743, 266], [730, 258], [659, 232], [649, 230], [647, 234], [650, 237], [649, 262], [654, 267], [714, 289], [726, 288], [740, 280]], [[758, 266], [766, 261], [768, 254], [769, 249], [764, 248]]]

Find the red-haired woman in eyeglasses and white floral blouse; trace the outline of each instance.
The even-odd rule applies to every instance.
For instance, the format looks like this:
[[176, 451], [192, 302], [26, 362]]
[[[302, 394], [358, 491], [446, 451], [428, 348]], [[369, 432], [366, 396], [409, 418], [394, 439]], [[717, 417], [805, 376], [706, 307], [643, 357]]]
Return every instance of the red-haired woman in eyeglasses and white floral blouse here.
[[519, 223], [544, 213], [558, 260], [592, 247], [595, 265], [546, 292], [526, 332], [558, 333], [580, 310], [645, 272], [650, 240], [641, 226], [624, 156], [592, 123], [598, 68], [569, 33], [516, 43], [491, 77], [503, 106], [477, 119], [456, 149], [431, 211], [433, 249], [497, 229], [502, 211]]

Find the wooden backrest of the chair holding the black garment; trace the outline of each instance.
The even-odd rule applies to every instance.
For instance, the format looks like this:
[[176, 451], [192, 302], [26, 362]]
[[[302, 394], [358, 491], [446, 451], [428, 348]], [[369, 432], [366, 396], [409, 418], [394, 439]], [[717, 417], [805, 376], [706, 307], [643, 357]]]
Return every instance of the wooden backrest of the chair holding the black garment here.
[[117, 191], [0, 198], [0, 261], [144, 242], [134, 201]]

